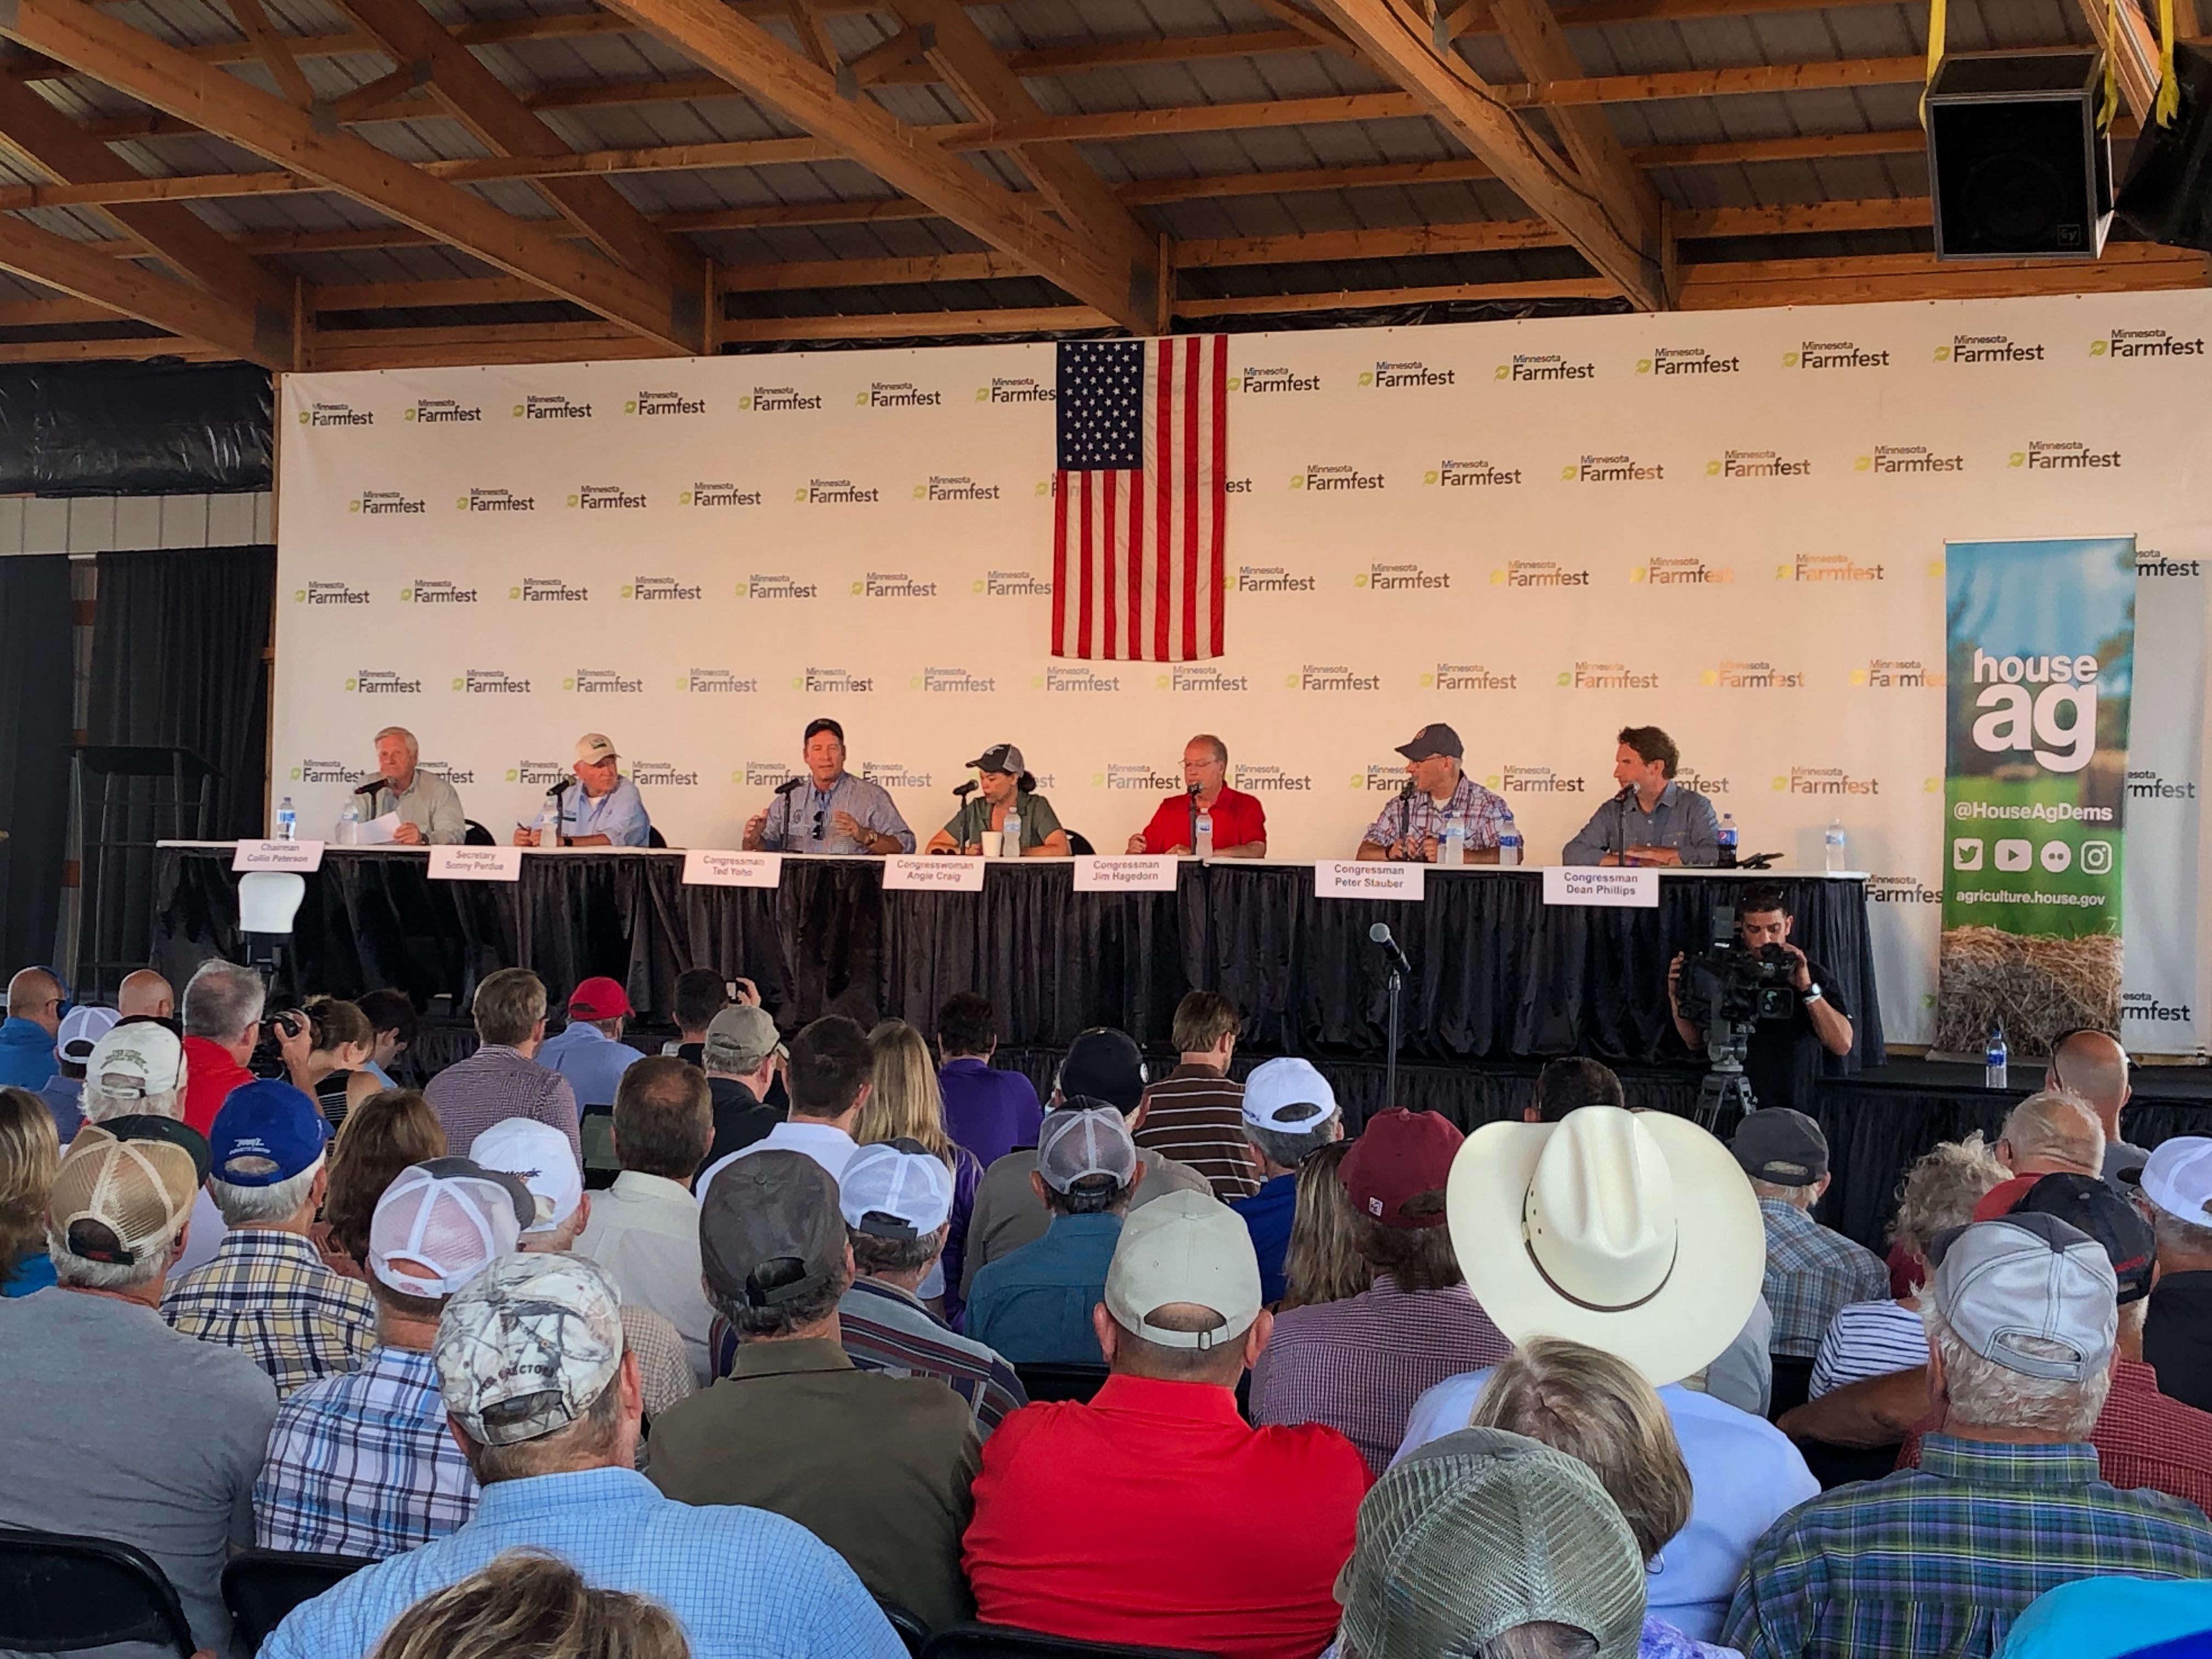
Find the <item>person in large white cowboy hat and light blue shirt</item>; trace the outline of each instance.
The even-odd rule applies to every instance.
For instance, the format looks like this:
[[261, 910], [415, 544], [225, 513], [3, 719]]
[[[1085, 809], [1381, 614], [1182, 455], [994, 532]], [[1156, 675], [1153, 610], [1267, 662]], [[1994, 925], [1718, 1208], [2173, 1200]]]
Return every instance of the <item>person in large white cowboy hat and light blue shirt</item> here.
[[[1517, 1343], [1559, 1336], [1659, 1387], [1690, 1471], [1690, 1524], [1650, 1573], [1650, 1610], [1721, 1632], [1752, 1542], [1820, 1482], [1774, 1425], [1683, 1385], [1743, 1329], [1765, 1272], [1752, 1183], [1679, 1117], [1586, 1106], [1559, 1124], [1484, 1124], [1451, 1172], [1451, 1237]], [[1429, 1389], [1400, 1458], [1460, 1429], [1486, 1371]]]

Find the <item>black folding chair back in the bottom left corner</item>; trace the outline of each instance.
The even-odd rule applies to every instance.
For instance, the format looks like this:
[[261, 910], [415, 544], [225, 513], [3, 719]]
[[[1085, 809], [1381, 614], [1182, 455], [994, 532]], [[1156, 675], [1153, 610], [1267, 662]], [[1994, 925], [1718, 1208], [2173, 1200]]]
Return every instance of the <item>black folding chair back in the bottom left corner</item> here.
[[192, 1659], [177, 1588], [131, 1544], [0, 1528], [0, 1648], [77, 1652], [144, 1641]]

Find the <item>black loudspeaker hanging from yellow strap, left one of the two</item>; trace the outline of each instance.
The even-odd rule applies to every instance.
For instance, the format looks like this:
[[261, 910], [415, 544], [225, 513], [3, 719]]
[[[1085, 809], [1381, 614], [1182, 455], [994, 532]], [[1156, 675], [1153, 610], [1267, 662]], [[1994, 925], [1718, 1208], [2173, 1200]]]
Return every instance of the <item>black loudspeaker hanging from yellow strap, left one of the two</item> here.
[[1969, 53], [1929, 82], [1938, 259], [2095, 259], [2112, 223], [2104, 53]]

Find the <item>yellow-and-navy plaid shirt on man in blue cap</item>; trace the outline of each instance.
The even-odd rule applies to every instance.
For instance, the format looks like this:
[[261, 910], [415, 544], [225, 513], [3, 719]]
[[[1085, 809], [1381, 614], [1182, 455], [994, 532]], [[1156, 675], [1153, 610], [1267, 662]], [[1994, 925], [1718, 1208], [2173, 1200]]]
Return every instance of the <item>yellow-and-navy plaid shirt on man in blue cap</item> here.
[[276, 1398], [352, 1371], [376, 1347], [376, 1298], [323, 1265], [296, 1232], [239, 1228], [215, 1259], [161, 1298], [161, 1318], [184, 1336], [241, 1349], [270, 1374]]

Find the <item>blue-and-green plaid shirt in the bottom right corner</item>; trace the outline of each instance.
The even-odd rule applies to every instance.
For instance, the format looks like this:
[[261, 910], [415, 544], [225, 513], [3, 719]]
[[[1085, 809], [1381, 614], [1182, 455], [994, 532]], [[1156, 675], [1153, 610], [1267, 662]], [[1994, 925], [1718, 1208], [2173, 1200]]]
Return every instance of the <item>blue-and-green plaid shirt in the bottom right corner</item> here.
[[2044, 1590], [2212, 1575], [2212, 1522], [2097, 1478], [2097, 1449], [1931, 1433], [1920, 1469], [1838, 1486], [1752, 1546], [1723, 1646], [1745, 1659], [1984, 1659]]

